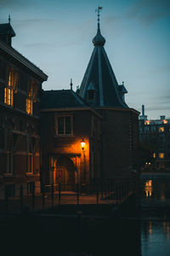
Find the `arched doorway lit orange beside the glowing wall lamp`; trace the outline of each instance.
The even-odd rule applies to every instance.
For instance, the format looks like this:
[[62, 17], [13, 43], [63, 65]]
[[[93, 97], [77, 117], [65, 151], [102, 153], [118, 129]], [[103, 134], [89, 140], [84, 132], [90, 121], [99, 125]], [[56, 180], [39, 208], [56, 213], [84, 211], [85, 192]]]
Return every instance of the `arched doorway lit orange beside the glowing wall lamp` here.
[[[65, 189], [71, 189], [75, 185], [77, 168], [71, 158], [60, 155], [54, 157], [54, 183], [65, 185]], [[64, 186], [63, 186], [64, 188]]]

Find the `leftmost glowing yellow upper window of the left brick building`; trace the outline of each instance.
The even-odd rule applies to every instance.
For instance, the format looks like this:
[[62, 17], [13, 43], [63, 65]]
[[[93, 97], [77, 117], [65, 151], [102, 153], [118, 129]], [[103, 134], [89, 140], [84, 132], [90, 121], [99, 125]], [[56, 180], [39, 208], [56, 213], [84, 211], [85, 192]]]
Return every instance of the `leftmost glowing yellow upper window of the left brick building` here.
[[18, 73], [11, 68], [8, 73], [8, 84], [4, 88], [4, 103], [13, 107], [14, 105], [14, 93], [17, 92], [18, 85]]

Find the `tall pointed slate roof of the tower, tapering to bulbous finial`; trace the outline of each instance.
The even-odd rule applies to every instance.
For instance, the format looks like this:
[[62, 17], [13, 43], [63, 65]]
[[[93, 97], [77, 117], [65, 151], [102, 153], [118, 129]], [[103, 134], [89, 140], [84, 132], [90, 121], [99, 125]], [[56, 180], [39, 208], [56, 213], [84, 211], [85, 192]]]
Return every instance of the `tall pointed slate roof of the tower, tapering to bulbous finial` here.
[[88, 88], [92, 83], [95, 89], [95, 107], [128, 108], [123, 98], [123, 94], [127, 90], [117, 83], [111, 63], [105, 52], [105, 38], [101, 36], [99, 27], [93, 43], [94, 51], [82, 79], [79, 95], [88, 100]]

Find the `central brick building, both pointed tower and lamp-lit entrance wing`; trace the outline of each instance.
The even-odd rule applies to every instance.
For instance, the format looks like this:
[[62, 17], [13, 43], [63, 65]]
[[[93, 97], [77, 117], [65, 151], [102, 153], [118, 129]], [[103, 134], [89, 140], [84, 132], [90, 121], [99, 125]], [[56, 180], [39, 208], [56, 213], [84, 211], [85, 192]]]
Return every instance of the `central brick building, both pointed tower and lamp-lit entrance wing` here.
[[138, 168], [139, 112], [125, 102], [127, 90], [116, 81], [99, 24], [93, 43], [77, 92], [42, 92], [44, 183], [96, 183]]

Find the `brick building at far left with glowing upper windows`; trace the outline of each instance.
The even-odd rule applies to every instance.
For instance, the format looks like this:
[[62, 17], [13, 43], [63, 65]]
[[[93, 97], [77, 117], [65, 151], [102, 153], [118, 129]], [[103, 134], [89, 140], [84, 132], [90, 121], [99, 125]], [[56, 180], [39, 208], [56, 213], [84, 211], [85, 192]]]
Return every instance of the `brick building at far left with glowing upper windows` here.
[[0, 197], [40, 183], [40, 93], [48, 79], [15, 50], [10, 22], [0, 25]]

